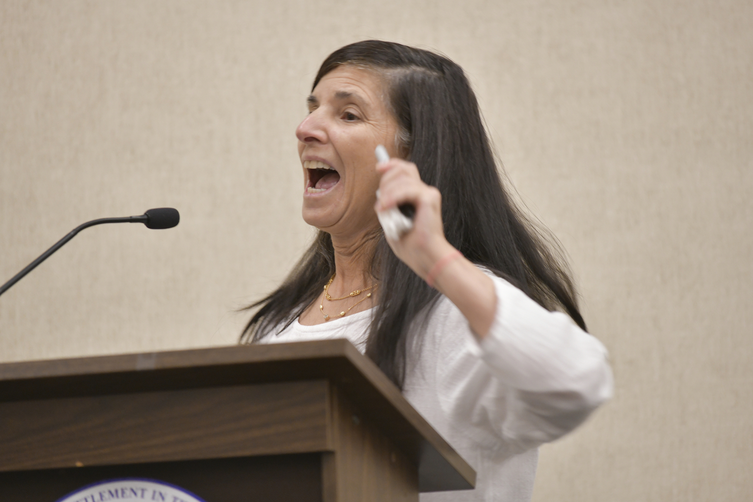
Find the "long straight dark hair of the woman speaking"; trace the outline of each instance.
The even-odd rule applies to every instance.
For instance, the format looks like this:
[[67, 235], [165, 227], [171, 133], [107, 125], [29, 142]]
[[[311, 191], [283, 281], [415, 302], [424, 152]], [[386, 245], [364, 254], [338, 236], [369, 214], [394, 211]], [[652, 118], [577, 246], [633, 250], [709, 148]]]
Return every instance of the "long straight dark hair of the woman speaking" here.
[[[462, 68], [428, 50], [361, 41], [331, 53], [312, 89], [340, 65], [380, 71], [398, 121], [398, 146], [421, 179], [442, 194], [444, 234], [468, 260], [506, 278], [546, 309], [561, 309], [584, 330], [575, 289], [556, 240], [532, 224], [502, 184], [476, 96]], [[411, 330], [437, 302], [429, 288], [376, 236], [371, 273], [380, 281], [366, 354], [402, 388]], [[334, 249], [320, 231], [288, 278], [259, 308], [241, 335], [252, 343], [293, 322], [334, 273]], [[420, 331], [420, 330], [419, 330]]]

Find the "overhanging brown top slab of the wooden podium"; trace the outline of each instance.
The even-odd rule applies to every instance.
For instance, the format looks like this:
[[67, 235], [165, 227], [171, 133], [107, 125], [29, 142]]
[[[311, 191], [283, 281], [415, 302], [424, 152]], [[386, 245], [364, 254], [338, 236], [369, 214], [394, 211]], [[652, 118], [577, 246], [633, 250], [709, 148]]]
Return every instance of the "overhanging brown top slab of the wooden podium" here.
[[[21, 409], [14, 406], [38, 406], [32, 403], [38, 400], [116, 399], [116, 394], [188, 389], [206, 389], [211, 395], [228, 386], [316, 379], [336, 385], [370, 424], [419, 466], [421, 491], [474, 486], [474, 470], [346, 339], [0, 364], [0, 403], [11, 412]], [[0, 415], [0, 420], [4, 416], [11, 415]], [[0, 453], [0, 465], [29, 461], [15, 453], [6, 460], [5, 452]], [[103, 458], [105, 450], [93, 449], [90, 454], [88, 461]]]

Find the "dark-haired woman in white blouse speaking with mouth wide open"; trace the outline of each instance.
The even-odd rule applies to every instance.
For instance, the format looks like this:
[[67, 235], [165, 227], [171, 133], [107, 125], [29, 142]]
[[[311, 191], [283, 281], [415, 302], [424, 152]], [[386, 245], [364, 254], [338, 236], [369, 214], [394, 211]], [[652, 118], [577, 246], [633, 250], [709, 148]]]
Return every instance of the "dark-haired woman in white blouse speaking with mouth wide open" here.
[[[347, 336], [477, 470], [474, 491], [422, 500], [530, 500], [536, 448], [611, 396], [611, 371], [505, 193], [462, 69], [358, 42], [325, 60], [308, 104], [303, 219], [319, 235], [242, 340]], [[392, 158], [375, 167], [380, 144]], [[377, 211], [406, 204], [413, 229], [387, 239]]]

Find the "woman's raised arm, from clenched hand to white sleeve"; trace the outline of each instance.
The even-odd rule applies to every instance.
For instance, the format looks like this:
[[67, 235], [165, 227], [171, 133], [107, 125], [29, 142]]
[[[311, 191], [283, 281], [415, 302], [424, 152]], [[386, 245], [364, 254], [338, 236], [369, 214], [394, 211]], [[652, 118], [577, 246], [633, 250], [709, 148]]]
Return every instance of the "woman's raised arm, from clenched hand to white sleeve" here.
[[[524, 450], [572, 431], [611, 397], [611, 370], [598, 340], [459, 256], [444, 237], [440, 193], [421, 181], [415, 165], [392, 159], [377, 169], [383, 173], [377, 211], [405, 202], [416, 208], [413, 230], [389, 245], [454, 304], [476, 338], [463, 342], [468, 328], [453, 321], [452, 309], [432, 335], [441, 347], [440, 400], [453, 421]], [[486, 378], [489, 370], [495, 379]]]

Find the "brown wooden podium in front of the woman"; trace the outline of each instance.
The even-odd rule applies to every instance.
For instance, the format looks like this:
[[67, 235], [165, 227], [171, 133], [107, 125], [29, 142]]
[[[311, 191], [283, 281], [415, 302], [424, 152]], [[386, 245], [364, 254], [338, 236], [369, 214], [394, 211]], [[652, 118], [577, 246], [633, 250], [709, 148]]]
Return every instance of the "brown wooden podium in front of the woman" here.
[[0, 364], [0, 500], [124, 477], [206, 502], [355, 502], [476, 474], [345, 339]]

